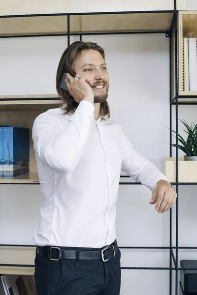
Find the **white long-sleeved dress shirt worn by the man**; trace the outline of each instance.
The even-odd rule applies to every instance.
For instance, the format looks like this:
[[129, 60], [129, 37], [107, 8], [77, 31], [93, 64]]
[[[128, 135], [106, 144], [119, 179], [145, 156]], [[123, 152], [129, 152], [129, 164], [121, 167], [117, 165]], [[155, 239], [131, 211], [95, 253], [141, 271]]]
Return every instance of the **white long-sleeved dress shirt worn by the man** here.
[[118, 123], [95, 120], [88, 101], [81, 101], [74, 114], [57, 108], [39, 115], [33, 144], [43, 197], [36, 245], [109, 245], [116, 239], [121, 170], [150, 190], [167, 180], [133, 149]]

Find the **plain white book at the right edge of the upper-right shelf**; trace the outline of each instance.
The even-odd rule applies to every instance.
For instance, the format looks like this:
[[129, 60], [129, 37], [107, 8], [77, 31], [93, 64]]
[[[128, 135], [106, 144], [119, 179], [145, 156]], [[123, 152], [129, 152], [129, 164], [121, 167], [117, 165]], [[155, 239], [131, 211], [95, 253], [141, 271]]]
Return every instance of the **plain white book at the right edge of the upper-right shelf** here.
[[188, 39], [190, 91], [197, 91], [197, 39]]

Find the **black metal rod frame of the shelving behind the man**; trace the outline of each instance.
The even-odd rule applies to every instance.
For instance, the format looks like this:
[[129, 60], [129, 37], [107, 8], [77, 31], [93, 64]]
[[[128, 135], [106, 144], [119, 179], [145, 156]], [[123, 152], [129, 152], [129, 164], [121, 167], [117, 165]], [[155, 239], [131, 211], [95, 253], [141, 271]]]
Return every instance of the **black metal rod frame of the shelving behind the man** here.
[[[173, 13], [172, 23], [169, 31], [128, 31], [128, 32], [93, 32], [93, 33], [70, 33], [70, 16], [72, 15], [101, 15], [101, 14], [136, 14], [136, 13], [166, 13], [171, 12]], [[33, 36], [60, 36], [60, 35], [67, 35], [67, 44], [70, 44], [70, 36], [71, 35], [78, 35], [80, 40], [82, 40], [83, 35], [105, 35], [105, 34], [139, 34], [139, 33], [165, 33], [166, 37], [170, 38], [169, 42], [169, 53], [170, 53], [170, 91], [169, 91], [169, 112], [170, 112], [170, 157], [172, 156], [172, 105], [175, 105], [175, 117], [176, 117], [176, 182], [171, 182], [172, 185], [176, 185], [176, 192], [177, 192], [177, 200], [176, 200], [176, 246], [172, 246], [172, 209], [169, 212], [170, 218], [170, 241], [169, 247], [120, 247], [121, 249], [167, 249], [169, 250], [169, 267], [121, 267], [122, 269], [141, 269], [141, 270], [169, 270], [169, 295], [172, 295], [172, 270], [176, 272], [176, 282], [175, 282], [175, 295], [178, 295], [178, 271], [179, 270], [193, 270], [197, 268], [181, 268], [178, 267], [178, 250], [179, 249], [197, 249], [197, 247], [179, 247], [178, 245], [178, 202], [179, 202], [179, 185], [197, 185], [197, 183], [181, 183], [178, 182], [178, 105], [187, 105], [187, 104], [194, 104], [196, 105], [197, 102], [187, 103], [187, 102], [179, 102], [179, 94], [178, 94], [178, 37], [175, 33], [175, 98], [172, 100], [172, 29], [173, 26], [175, 28], [175, 32], [177, 32], [177, 9], [176, 9], [176, 0], [174, 0], [174, 10], [166, 10], [166, 11], [124, 11], [124, 12], [95, 12], [95, 13], [63, 13], [63, 14], [40, 14], [40, 15], [14, 15], [14, 16], [0, 16], [0, 18], [13, 18], [13, 17], [34, 17], [34, 16], [58, 16], [58, 15], [65, 15], [67, 16], [67, 34], [39, 34], [39, 35], [17, 35], [17, 36], [0, 36], [0, 38], [13, 38], [13, 37], [33, 37]], [[194, 96], [181, 96], [182, 98], [194, 98]], [[43, 100], [43, 98], [41, 98]], [[50, 99], [59, 99], [59, 98], [46, 98], [47, 100]], [[0, 100], [11, 100], [8, 98], [2, 98]], [[19, 98], [17, 100], [25, 100], [23, 98]], [[31, 100], [31, 99], [30, 99]], [[39, 98], [32, 98], [32, 100], [39, 100]], [[122, 176], [125, 177], [125, 176]], [[1, 183], [6, 184], [6, 183]], [[21, 184], [21, 183], [20, 183]], [[24, 183], [28, 184], [28, 183]], [[39, 184], [39, 183], [38, 183]], [[120, 185], [137, 185], [141, 184], [139, 182], [120, 182]], [[0, 246], [23, 246], [23, 247], [34, 247], [34, 245], [0, 245]], [[175, 249], [175, 256], [173, 253], [173, 249]], [[172, 262], [174, 267], [172, 267]], [[27, 266], [31, 267], [33, 265], [8, 265], [8, 264], [0, 264], [0, 266]], [[183, 292], [183, 288], [180, 282], [180, 288]]]

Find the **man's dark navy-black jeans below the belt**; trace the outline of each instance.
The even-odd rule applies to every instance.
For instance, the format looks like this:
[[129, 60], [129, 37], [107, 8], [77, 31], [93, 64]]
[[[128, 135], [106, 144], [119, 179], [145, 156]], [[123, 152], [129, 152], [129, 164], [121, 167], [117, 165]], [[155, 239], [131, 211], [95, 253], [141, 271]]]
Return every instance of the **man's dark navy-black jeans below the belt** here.
[[36, 254], [34, 277], [37, 295], [119, 295], [120, 257], [119, 249], [116, 256], [106, 262], [51, 261]]

